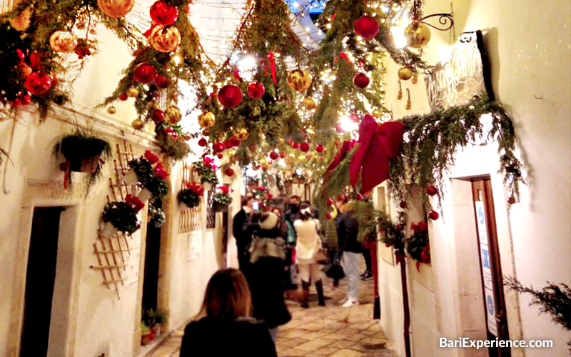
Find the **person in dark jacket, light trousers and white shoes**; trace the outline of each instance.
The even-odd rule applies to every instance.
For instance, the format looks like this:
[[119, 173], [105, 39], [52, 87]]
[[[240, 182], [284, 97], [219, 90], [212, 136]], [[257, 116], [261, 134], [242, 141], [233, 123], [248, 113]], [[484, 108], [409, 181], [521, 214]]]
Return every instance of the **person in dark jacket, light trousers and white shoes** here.
[[343, 307], [350, 307], [359, 303], [359, 258], [361, 256], [360, 243], [357, 240], [359, 225], [354, 217], [353, 202], [349, 201], [340, 208], [338, 216], [337, 237], [339, 249], [343, 254], [343, 271], [348, 278], [348, 296]]

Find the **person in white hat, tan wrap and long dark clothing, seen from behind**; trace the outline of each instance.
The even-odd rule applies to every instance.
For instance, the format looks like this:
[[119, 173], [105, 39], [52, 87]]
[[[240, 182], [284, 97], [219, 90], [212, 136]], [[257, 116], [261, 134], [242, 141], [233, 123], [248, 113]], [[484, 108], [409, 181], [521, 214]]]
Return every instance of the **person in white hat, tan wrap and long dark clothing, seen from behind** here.
[[248, 283], [252, 291], [253, 316], [264, 321], [276, 341], [278, 326], [288, 323], [291, 315], [283, 298], [285, 241], [275, 213], [263, 213], [253, 231], [250, 246]]

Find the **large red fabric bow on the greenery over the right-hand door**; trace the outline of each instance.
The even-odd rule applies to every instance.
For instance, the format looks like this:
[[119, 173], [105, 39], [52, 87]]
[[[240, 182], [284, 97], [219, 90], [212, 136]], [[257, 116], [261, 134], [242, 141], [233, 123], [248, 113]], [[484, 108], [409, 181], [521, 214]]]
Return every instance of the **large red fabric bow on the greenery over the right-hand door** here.
[[[398, 155], [405, 124], [388, 121], [380, 126], [365, 114], [359, 126], [359, 147], [349, 165], [351, 186], [361, 171], [361, 193], [372, 190], [388, 176], [389, 159]], [[362, 169], [361, 169], [362, 168]]]

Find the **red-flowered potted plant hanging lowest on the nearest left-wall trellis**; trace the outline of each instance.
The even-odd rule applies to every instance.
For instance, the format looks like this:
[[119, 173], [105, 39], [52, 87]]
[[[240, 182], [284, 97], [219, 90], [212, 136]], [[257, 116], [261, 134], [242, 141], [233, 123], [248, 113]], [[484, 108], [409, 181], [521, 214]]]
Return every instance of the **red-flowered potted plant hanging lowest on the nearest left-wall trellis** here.
[[107, 203], [101, 216], [103, 227], [99, 230], [100, 237], [108, 238], [116, 231], [131, 234], [141, 226], [137, 221], [137, 211], [145, 206], [144, 203], [131, 195], [127, 195], [126, 201]]

